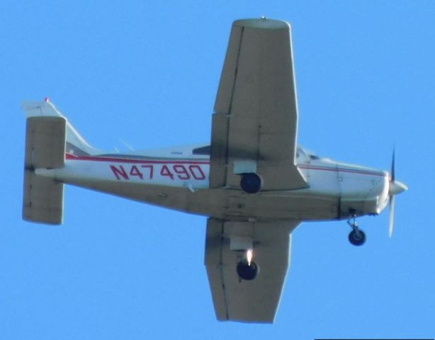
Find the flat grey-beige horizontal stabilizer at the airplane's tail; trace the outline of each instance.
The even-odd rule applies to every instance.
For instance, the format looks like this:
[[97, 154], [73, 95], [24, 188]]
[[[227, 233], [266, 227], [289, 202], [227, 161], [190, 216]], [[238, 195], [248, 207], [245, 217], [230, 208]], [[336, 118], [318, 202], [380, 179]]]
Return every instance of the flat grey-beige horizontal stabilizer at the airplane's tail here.
[[23, 219], [61, 224], [64, 184], [35, 174], [35, 169], [55, 169], [65, 162], [65, 127], [62, 117], [27, 119], [24, 167]]

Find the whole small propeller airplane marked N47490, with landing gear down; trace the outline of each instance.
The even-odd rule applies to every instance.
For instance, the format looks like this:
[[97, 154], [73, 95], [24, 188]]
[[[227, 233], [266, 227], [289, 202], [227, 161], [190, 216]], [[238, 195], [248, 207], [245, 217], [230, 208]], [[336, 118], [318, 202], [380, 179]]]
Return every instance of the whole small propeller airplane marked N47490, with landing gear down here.
[[[61, 224], [64, 184], [208, 216], [205, 266], [219, 320], [273, 322], [303, 221], [378, 215], [407, 190], [390, 174], [318, 157], [297, 144], [290, 25], [235, 21], [215, 101], [211, 143], [143, 152], [89, 145], [48, 100], [27, 116], [23, 219]], [[260, 270], [261, 269], [261, 270]]]

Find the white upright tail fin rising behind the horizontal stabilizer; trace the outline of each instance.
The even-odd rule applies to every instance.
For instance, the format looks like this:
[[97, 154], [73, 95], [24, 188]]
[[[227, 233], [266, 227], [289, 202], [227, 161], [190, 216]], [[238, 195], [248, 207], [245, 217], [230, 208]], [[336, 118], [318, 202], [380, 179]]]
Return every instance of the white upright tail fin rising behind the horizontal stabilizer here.
[[50, 101], [35, 102], [25, 101], [23, 102], [23, 111], [26, 113], [26, 117], [62, 117], [66, 120], [66, 151], [70, 154], [76, 154], [77, 156], [93, 155], [101, 153], [98, 149], [91, 147], [86, 140], [77, 132], [76, 129], [69, 123], [67, 118], [57, 110], [57, 108]]

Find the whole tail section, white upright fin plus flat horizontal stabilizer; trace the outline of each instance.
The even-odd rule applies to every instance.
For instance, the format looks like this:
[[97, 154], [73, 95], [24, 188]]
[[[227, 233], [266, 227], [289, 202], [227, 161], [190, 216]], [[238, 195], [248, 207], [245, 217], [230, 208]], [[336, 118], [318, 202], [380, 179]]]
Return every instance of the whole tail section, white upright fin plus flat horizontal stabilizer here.
[[61, 224], [64, 184], [38, 176], [35, 170], [62, 168], [66, 152], [77, 156], [101, 152], [91, 147], [49, 101], [26, 101], [23, 111], [27, 117], [23, 219]]

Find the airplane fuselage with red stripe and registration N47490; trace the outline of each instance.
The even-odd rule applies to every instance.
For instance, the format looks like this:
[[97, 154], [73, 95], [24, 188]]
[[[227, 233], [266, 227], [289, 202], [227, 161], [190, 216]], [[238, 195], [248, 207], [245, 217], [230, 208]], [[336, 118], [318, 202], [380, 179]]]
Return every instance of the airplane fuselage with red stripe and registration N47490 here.
[[[205, 152], [195, 150], [205, 149]], [[240, 220], [332, 220], [377, 215], [388, 202], [388, 173], [316, 157], [298, 148], [298, 169], [309, 186], [293, 191], [210, 189], [206, 147], [77, 155], [67, 149], [60, 169], [36, 169], [75, 186], [165, 208]]]

